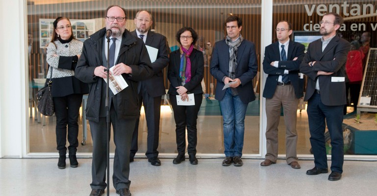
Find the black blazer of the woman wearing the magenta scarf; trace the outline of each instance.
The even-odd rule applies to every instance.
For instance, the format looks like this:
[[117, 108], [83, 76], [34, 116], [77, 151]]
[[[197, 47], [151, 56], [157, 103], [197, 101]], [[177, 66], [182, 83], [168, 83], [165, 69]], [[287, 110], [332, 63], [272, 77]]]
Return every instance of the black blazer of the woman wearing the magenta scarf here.
[[[199, 94], [203, 93], [201, 89], [201, 80], [203, 79], [204, 72], [204, 58], [203, 53], [197, 49], [193, 49], [190, 55], [191, 61], [191, 80], [183, 87], [187, 89], [187, 93]], [[178, 95], [176, 87], [182, 86], [182, 80], [179, 77], [180, 67], [180, 52], [179, 49], [170, 53], [168, 79], [170, 81], [170, 87], [168, 94]]]

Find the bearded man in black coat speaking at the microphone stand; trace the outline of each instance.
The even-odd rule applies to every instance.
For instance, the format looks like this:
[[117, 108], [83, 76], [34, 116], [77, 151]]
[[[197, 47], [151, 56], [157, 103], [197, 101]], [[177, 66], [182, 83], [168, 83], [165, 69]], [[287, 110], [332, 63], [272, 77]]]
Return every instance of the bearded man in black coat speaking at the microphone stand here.
[[[114, 66], [109, 73], [122, 75], [128, 87], [113, 94], [109, 91], [109, 116], [115, 144], [113, 185], [117, 194], [130, 196], [129, 152], [136, 119], [139, 118], [138, 83], [152, 76], [153, 70], [147, 48], [142, 40], [126, 30], [126, 10], [111, 5], [106, 10], [106, 27], [84, 42], [75, 76], [89, 84], [86, 119], [93, 139], [92, 192], [101, 196], [106, 188], [106, 65]], [[107, 56], [106, 32], [111, 30]], [[113, 45], [115, 44], [115, 45]], [[108, 182], [107, 182], [108, 183]]]

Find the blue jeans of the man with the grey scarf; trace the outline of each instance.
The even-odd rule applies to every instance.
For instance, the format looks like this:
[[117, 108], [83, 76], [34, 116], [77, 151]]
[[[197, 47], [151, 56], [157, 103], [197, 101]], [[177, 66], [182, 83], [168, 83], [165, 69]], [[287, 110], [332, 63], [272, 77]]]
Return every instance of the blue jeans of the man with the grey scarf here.
[[242, 156], [244, 147], [245, 114], [248, 104], [238, 95], [233, 96], [227, 88], [223, 100], [219, 101], [224, 120], [225, 156]]

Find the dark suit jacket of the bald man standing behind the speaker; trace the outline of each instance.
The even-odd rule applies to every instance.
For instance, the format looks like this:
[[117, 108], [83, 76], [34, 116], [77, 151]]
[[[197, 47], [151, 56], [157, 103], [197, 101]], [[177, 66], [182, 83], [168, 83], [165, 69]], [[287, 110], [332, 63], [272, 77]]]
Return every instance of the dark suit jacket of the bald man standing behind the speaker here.
[[[131, 34], [137, 37], [136, 30], [132, 31]], [[156, 61], [152, 63], [153, 76], [142, 82], [146, 84], [147, 92], [151, 97], [158, 97], [166, 93], [162, 73], [162, 69], [168, 66], [169, 63], [166, 37], [159, 33], [148, 31], [145, 44], [157, 48], [158, 53]]]

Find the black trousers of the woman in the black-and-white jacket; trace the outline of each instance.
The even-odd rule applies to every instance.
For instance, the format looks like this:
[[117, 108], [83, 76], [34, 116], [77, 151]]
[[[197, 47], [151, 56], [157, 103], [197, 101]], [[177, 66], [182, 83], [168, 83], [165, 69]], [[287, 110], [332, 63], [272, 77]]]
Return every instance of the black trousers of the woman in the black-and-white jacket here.
[[70, 94], [64, 97], [54, 97], [53, 105], [56, 116], [56, 150], [59, 155], [67, 152], [67, 125], [68, 125], [68, 150], [75, 155], [78, 146], [78, 112], [80, 110], [82, 94]]

